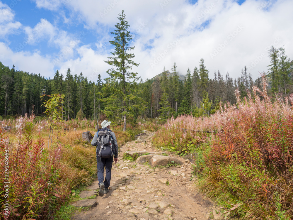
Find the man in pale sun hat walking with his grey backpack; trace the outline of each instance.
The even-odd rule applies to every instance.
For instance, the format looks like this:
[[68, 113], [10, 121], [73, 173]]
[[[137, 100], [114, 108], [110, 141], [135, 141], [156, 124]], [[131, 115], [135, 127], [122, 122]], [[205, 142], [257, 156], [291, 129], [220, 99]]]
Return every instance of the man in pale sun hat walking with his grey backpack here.
[[[103, 196], [104, 194], [107, 194], [109, 192], [109, 186], [110, 186], [110, 181], [111, 181], [111, 169], [112, 169], [112, 163], [113, 161], [117, 163], [118, 161], [118, 144], [116, 140], [115, 133], [110, 130], [110, 123], [111, 121], [106, 121], [104, 120], [101, 123], [102, 128], [98, 129], [98, 131], [95, 133], [93, 137], [93, 141], [91, 142], [91, 145], [97, 146], [96, 148], [96, 157], [97, 157], [97, 167], [98, 167], [98, 181], [99, 181], [99, 196]], [[100, 136], [100, 134], [108, 134], [108, 139], [105, 136]], [[105, 140], [108, 141], [108, 145], [105, 144], [100, 144], [100, 140], [104, 140], [102, 138], [105, 138]], [[102, 141], [103, 142], [103, 141]], [[110, 145], [112, 145], [112, 152], [108, 153], [110, 155], [104, 156], [103, 150], [110, 148]], [[101, 147], [100, 147], [101, 146]], [[102, 149], [101, 149], [102, 148]], [[106, 150], [105, 150], [106, 151]], [[100, 155], [100, 156], [99, 156]], [[106, 167], [106, 177], [104, 181], [104, 168]]]

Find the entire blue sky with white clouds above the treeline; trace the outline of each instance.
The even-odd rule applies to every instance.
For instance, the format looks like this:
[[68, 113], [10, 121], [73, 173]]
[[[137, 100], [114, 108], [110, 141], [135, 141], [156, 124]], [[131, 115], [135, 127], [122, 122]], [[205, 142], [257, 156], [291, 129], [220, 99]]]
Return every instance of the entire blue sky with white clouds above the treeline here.
[[270, 45], [293, 59], [292, 0], [0, 0], [0, 61], [16, 70], [52, 77], [83, 72], [108, 77], [104, 60], [124, 10], [135, 46], [133, 68], [143, 80], [199, 66], [209, 77], [233, 78], [244, 65], [255, 80], [270, 64]]

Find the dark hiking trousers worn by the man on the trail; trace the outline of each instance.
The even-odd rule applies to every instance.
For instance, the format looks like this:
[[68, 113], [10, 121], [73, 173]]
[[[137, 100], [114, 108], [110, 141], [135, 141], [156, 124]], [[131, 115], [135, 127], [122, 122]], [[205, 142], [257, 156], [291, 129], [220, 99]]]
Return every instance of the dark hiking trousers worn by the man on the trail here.
[[[113, 158], [100, 158], [97, 156], [97, 167], [98, 167], [98, 181], [99, 185], [104, 182], [105, 188], [110, 186], [111, 181], [111, 169], [112, 169]], [[106, 167], [106, 177], [104, 181], [104, 168]]]

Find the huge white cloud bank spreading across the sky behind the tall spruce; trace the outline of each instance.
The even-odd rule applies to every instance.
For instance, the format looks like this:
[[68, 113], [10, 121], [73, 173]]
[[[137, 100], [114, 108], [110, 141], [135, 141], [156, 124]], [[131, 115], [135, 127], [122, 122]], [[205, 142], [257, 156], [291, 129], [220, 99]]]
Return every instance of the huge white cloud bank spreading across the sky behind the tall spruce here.
[[[35, 1], [39, 8], [54, 13], [67, 7], [84, 28], [98, 35], [99, 40], [92, 42], [96, 49], [91, 49], [82, 45], [79, 33], [69, 33], [51, 23], [38, 32], [42, 20], [34, 28], [25, 28], [28, 36], [33, 35], [32, 42], [46, 38], [49, 46], [59, 48], [59, 54], [50, 56], [55, 69], [63, 73], [69, 67], [76, 74], [82, 71], [90, 77], [98, 71], [105, 77], [109, 67], [103, 60], [110, 54], [108, 40], [113, 40], [108, 32], [123, 9], [133, 37], [131, 46], [135, 46], [133, 60], [140, 63], [133, 70], [143, 79], [162, 72], [163, 66], [171, 71], [174, 62], [185, 74], [188, 68], [198, 67], [201, 58], [211, 78], [218, 69], [236, 78], [246, 65], [256, 79], [259, 72], [267, 70], [272, 44], [277, 48], [284, 45], [287, 56], [293, 58], [292, 0], [246, 0], [241, 6], [234, 0], [198, 0], [193, 5], [187, 0]], [[60, 15], [72, 25], [74, 17], [66, 18], [62, 10]]]

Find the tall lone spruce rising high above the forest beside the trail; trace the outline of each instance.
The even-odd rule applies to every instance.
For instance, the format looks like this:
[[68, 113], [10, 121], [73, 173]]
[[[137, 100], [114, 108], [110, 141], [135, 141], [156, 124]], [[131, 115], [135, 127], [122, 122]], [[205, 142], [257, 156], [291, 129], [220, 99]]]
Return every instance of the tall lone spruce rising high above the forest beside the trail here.
[[134, 58], [134, 53], [127, 53], [130, 50], [134, 50], [134, 47], [129, 46], [129, 41], [132, 40], [130, 31], [128, 31], [129, 25], [125, 20], [124, 11], [118, 15], [119, 23], [115, 25], [115, 31], [111, 32], [114, 35], [114, 40], [109, 41], [114, 46], [115, 51], [111, 54], [113, 57], [108, 57], [107, 64], [112, 68], [107, 71], [110, 75], [110, 79], [106, 81], [115, 81], [112, 85], [117, 85], [113, 88], [114, 96], [122, 98], [122, 105], [118, 107], [119, 115], [123, 116], [123, 131], [126, 131], [126, 116], [131, 115], [131, 111], [135, 105], [135, 99], [137, 96], [133, 94], [133, 85], [139, 79], [136, 72], [130, 72], [132, 67], [137, 67], [139, 64], [135, 63], [131, 59]]

